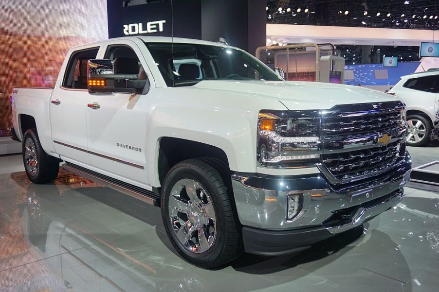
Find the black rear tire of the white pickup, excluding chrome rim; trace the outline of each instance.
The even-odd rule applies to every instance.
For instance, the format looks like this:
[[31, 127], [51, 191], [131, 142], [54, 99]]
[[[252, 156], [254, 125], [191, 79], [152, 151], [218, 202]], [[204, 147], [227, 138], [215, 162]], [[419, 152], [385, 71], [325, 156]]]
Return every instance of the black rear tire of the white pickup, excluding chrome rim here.
[[[31, 169], [35, 163], [30, 166], [27, 162], [26, 157], [26, 142], [30, 140], [34, 145], [34, 153], [36, 155], [37, 164], [34, 169]], [[47, 184], [53, 182], [58, 176], [59, 172], [59, 159], [53, 156], [47, 155], [41, 143], [39, 142], [38, 134], [36, 129], [28, 129], [24, 133], [23, 143], [21, 146], [21, 151], [23, 155], [24, 169], [26, 170], [27, 177], [34, 184]]]

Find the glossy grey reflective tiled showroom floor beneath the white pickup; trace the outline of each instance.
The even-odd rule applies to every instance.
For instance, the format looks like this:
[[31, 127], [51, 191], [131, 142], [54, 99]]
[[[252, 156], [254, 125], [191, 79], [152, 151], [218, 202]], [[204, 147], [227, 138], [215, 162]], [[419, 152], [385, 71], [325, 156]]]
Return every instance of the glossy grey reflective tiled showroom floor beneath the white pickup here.
[[31, 184], [0, 157], [0, 291], [439, 291], [439, 193], [402, 203], [292, 256], [245, 254], [216, 271], [179, 258], [160, 209], [61, 171]]

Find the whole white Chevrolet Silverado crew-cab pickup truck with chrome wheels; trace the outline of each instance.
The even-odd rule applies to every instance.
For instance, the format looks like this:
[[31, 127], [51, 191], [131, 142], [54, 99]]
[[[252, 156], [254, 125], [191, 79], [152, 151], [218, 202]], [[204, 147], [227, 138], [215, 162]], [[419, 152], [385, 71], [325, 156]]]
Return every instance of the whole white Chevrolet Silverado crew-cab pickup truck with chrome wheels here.
[[75, 47], [54, 88], [14, 88], [29, 179], [63, 168], [160, 206], [189, 262], [282, 255], [361, 226], [409, 180], [405, 106], [285, 82], [250, 54], [166, 37]]

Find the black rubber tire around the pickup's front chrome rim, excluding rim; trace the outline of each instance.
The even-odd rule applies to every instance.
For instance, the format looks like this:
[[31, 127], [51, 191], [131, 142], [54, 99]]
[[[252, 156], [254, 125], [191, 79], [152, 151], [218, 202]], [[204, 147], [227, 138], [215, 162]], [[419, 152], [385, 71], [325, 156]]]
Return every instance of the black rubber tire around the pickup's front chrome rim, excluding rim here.
[[[184, 160], [167, 173], [161, 198], [162, 219], [166, 233], [177, 252], [188, 262], [202, 268], [218, 268], [242, 254], [242, 233], [230, 183], [220, 172], [228, 171], [224, 164], [214, 158]], [[229, 172], [229, 171], [228, 171]], [[169, 199], [171, 189], [182, 179], [195, 180], [205, 189], [216, 216], [215, 238], [204, 252], [196, 253], [186, 248], [177, 238], [171, 223]], [[189, 219], [187, 219], [189, 221]]]

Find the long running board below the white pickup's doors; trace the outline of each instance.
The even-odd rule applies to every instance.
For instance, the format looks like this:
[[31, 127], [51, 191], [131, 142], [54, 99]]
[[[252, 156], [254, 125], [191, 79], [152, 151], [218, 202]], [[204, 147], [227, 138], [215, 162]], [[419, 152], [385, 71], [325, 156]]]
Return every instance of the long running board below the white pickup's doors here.
[[133, 186], [126, 182], [122, 182], [109, 176], [90, 171], [71, 163], [63, 164], [62, 168], [66, 171], [73, 172], [74, 174], [95, 181], [104, 187], [120, 191], [121, 193], [124, 193], [130, 197], [133, 197], [152, 206], [158, 206], [159, 198], [154, 194], [154, 192], [150, 190]]

